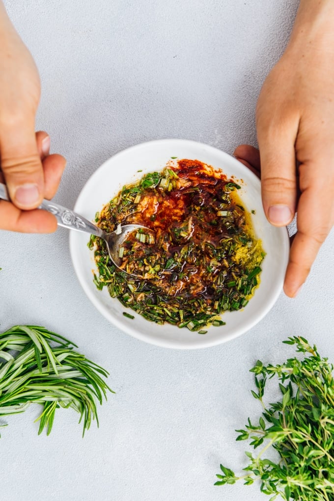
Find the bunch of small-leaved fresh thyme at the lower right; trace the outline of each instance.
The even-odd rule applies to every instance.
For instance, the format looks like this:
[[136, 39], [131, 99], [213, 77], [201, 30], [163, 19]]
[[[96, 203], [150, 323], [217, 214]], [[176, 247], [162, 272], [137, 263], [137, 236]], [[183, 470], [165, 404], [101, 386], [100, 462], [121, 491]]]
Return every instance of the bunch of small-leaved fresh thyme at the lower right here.
[[[290, 337], [286, 344], [296, 345], [296, 351], [306, 353], [302, 360], [290, 358], [282, 365], [266, 367], [259, 360], [251, 369], [255, 374], [256, 391], [252, 395], [263, 405], [258, 425], [248, 418], [245, 429], [236, 430], [237, 440], [250, 440], [255, 449], [264, 447], [255, 457], [246, 452], [249, 464], [245, 475], [220, 465], [215, 485], [245, 484], [261, 481], [260, 490], [281, 495], [286, 501], [334, 501], [334, 379], [333, 366], [320, 358], [316, 347], [302, 337]], [[282, 399], [263, 403], [267, 379], [276, 376]], [[284, 384], [285, 383], [285, 384]], [[264, 419], [263, 419], [264, 418]], [[265, 421], [269, 424], [266, 424]], [[278, 462], [262, 458], [273, 447], [280, 456]]]

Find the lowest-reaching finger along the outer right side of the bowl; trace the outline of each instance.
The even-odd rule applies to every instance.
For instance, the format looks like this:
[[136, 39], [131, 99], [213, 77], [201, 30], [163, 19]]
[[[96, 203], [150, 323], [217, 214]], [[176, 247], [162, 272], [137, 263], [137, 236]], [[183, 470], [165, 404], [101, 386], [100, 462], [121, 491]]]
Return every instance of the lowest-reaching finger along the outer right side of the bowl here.
[[297, 208], [297, 233], [291, 244], [289, 263], [284, 280], [284, 292], [295, 297], [305, 282], [318, 250], [328, 235], [333, 220], [332, 197], [322, 197], [326, 190], [319, 182], [306, 188], [300, 195]]

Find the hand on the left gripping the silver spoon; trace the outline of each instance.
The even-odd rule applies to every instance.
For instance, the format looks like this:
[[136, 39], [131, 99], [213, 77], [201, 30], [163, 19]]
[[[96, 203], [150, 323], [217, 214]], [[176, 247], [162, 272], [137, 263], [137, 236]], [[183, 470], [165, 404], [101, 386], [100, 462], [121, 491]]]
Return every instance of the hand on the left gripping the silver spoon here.
[[12, 202], [0, 200], [0, 228], [51, 232], [56, 218], [32, 210], [57, 191], [65, 159], [49, 155], [50, 137], [35, 134], [40, 79], [35, 62], [0, 2], [0, 181]]

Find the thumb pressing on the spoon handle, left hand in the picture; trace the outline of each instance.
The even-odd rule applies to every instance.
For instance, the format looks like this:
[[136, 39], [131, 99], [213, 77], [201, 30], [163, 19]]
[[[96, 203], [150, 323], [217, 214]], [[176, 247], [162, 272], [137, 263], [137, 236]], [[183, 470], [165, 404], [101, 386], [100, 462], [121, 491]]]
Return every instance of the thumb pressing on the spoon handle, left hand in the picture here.
[[26, 210], [38, 207], [43, 199], [44, 172], [34, 121], [4, 126], [0, 134], [0, 155], [12, 202]]

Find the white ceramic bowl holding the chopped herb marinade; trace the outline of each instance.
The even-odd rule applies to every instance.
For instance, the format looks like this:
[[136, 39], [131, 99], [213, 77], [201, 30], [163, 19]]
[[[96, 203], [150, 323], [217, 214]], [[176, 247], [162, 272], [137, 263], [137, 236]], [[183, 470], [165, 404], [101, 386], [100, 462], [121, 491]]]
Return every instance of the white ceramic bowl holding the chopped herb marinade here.
[[[87, 219], [94, 220], [95, 213], [122, 186], [140, 179], [147, 172], [161, 170], [171, 157], [197, 159], [221, 169], [228, 177], [233, 175], [242, 179], [238, 194], [248, 210], [255, 210], [255, 215], [252, 215], [255, 234], [261, 238], [266, 252], [261, 266], [261, 283], [247, 306], [236, 312], [225, 313], [222, 318], [226, 325], [211, 326], [205, 335], [169, 324], [157, 325], [111, 298], [107, 288], [97, 290], [92, 273], [96, 266], [93, 252], [87, 247], [87, 233], [70, 232], [72, 261], [88, 298], [102, 315], [122, 331], [167, 348], [206, 348], [229, 341], [253, 327], [274, 305], [282, 290], [289, 253], [288, 234], [286, 228], [276, 228], [267, 222], [262, 209], [259, 179], [238, 160], [212, 146], [181, 139], [150, 141], [121, 151], [101, 165], [81, 191], [75, 210]], [[134, 320], [126, 318], [124, 311], [134, 315]]]

